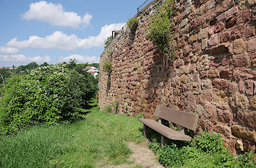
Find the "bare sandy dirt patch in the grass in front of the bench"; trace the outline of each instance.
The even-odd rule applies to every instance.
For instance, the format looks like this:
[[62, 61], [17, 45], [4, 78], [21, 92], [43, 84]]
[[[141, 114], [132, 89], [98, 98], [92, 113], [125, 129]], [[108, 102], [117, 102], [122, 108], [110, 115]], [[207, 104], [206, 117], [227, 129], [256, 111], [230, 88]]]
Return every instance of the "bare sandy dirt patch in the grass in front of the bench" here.
[[142, 166], [144, 168], [163, 168], [161, 164], [153, 154], [153, 151], [148, 149], [148, 142], [145, 141], [140, 144], [135, 144], [132, 142], [127, 143], [129, 149], [133, 151], [133, 154], [129, 157], [129, 160], [133, 161], [134, 164], [122, 164], [118, 166], [106, 166], [105, 168], [132, 168], [135, 166]]

